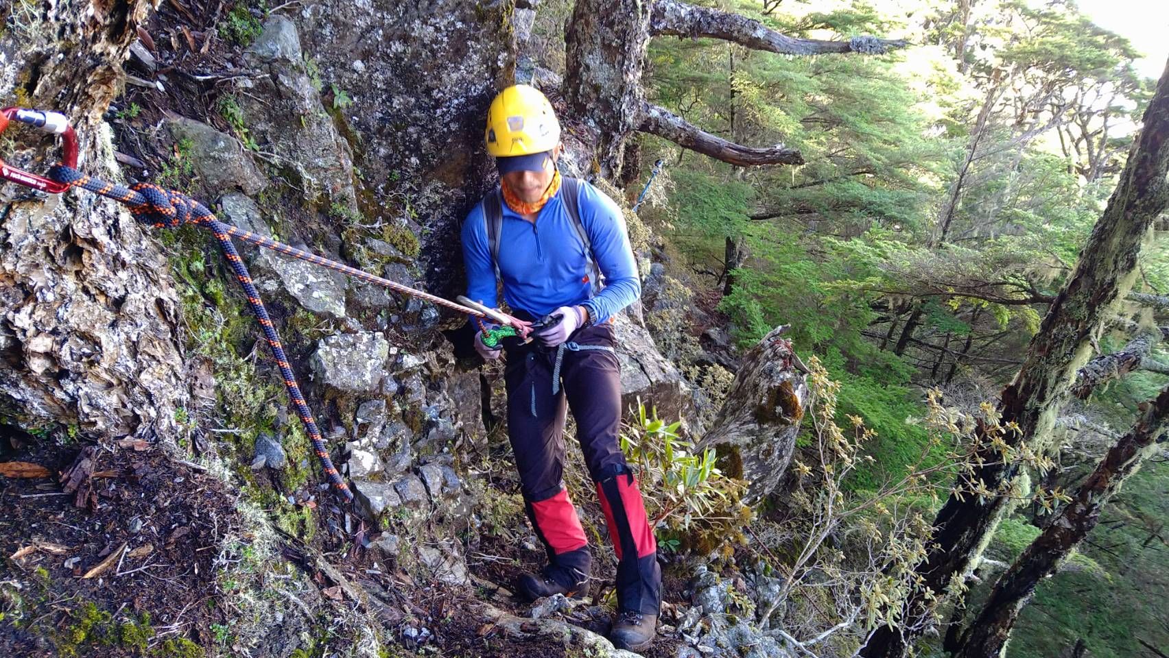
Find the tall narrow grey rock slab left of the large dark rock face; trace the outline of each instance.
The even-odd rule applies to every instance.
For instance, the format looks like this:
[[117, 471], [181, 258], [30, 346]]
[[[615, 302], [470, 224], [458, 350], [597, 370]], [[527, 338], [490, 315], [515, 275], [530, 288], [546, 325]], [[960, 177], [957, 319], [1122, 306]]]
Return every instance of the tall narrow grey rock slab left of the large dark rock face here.
[[245, 60], [264, 74], [237, 82], [247, 88], [238, 103], [249, 134], [297, 173], [310, 199], [324, 194], [343, 214], [355, 212], [353, 155], [321, 104], [319, 81], [309, 75], [296, 25], [268, 16]]

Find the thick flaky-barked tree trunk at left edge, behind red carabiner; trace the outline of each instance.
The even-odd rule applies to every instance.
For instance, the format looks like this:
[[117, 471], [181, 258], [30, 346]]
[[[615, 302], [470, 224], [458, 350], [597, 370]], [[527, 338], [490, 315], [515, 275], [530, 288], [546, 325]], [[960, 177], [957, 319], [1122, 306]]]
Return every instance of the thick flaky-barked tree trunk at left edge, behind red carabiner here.
[[[30, 7], [29, 25], [0, 36], [8, 62], [0, 89], [68, 115], [79, 165], [116, 180], [102, 115], [150, 4]], [[13, 124], [8, 136], [22, 147], [4, 153], [14, 165], [40, 172], [56, 157], [27, 127]], [[85, 192], [44, 196], [5, 185], [0, 217], [0, 409], [26, 428], [172, 436], [187, 389], [174, 339], [178, 296], [155, 243], [122, 206]]]

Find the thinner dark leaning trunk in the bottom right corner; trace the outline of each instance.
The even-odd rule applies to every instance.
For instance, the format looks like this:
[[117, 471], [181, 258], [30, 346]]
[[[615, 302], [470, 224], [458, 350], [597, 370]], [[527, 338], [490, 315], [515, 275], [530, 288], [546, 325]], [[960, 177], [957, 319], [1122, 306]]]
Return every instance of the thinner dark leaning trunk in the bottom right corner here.
[[1156, 451], [1157, 437], [1169, 427], [1169, 387], [1142, 407], [1141, 418], [1108, 450], [1072, 501], [999, 576], [954, 658], [1003, 654], [1019, 611], [1031, 601], [1039, 581], [1059, 569], [1100, 521], [1108, 500], [1140, 470], [1142, 460]]

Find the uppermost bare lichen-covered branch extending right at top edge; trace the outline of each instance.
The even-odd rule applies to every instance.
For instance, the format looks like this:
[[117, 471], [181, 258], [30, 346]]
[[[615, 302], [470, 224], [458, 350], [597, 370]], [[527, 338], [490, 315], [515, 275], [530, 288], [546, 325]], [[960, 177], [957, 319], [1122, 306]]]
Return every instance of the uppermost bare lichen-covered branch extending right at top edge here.
[[753, 50], [767, 50], [781, 55], [822, 55], [826, 53], [885, 54], [894, 48], [904, 48], [902, 39], [874, 39], [858, 36], [849, 41], [823, 41], [796, 39], [780, 34], [763, 23], [729, 12], [708, 7], [696, 7], [677, 0], [656, 0], [650, 21], [653, 35], [708, 36], [741, 43]]

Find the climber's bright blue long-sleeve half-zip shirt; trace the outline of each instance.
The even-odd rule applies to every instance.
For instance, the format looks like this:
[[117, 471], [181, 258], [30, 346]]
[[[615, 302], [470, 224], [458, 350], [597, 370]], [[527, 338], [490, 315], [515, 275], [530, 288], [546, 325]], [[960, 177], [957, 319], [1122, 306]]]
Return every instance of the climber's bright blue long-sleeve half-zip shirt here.
[[[593, 243], [593, 257], [604, 275], [604, 289], [589, 298], [584, 243], [561, 200], [565, 188], [549, 199], [535, 217], [526, 221], [503, 206], [499, 234], [499, 273], [504, 299], [513, 310], [544, 317], [560, 306], [583, 305], [594, 324], [603, 323], [642, 293], [625, 220], [617, 205], [587, 182], [580, 186], [581, 224]], [[486, 306], [498, 306], [496, 271], [491, 263], [487, 228], [482, 205], [463, 222], [463, 262], [466, 296]]]

